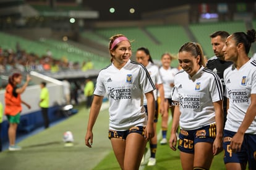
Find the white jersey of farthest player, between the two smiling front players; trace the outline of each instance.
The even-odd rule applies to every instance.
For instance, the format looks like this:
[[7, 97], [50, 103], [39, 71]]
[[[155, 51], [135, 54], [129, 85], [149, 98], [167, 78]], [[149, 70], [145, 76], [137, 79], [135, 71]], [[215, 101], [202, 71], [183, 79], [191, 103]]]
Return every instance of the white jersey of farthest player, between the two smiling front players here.
[[171, 98], [171, 92], [173, 91], [171, 83], [174, 83], [174, 76], [179, 70], [171, 67], [166, 70], [163, 67], [160, 67], [159, 71], [163, 80], [164, 98]]

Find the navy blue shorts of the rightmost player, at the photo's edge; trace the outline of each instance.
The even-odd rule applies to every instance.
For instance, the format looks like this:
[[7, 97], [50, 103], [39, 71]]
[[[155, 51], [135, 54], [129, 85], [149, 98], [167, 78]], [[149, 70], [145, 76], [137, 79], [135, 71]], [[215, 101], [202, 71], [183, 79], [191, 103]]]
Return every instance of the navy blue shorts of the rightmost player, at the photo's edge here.
[[233, 153], [230, 142], [236, 132], [224, 130], [224, 163], [249, 164], [249, 169], [256, 169], [256, 135], [244, 134], [241, 151]]

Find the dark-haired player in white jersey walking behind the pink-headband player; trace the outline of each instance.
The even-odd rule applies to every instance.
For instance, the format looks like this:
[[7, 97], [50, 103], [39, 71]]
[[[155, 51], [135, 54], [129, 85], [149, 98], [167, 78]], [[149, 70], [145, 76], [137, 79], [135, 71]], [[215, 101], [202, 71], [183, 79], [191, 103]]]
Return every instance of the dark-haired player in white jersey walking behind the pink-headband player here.
[[[150, 74], [151, 80], [154, 85], [158, 88], [158, 90], [154, 90], [155, 97], [155, 118], [154, 118], [154, 131], [155, 135], [150, 139], [150, 159], [148, 161], [148, 166], [155, 166], [156, 164], [156, 149], [157, 149], [157, 134], [156, 134], [156, 124], [158, 122], [158, 103], [156, 102], [157, 93], [160, 93], [160, 113], [164, 110], [164, 89], [163, 89], [163, 80], [161, 79], [160, 72], [158, 66], [153, 63], [153, 59], [150, 56], [150, 51], [147, 48], [141, 47], [136, 51], [136, 60], [140, 64], [142, 64], [148, 70]], [[147, 108], [147, 98], [144, 96], [143, 105], [146, 109], [146, 113], [148, 111]]]

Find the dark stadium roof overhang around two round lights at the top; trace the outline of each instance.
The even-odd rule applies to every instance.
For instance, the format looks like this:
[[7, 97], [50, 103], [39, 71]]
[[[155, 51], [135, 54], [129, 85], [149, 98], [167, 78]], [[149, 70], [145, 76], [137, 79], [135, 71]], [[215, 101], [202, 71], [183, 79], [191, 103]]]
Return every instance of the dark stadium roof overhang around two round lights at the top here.
[[[95, 11], [100, 12], [100, 19], [102, 20], [134, 20], [141, 19], [144, 12], [158, 11], [162, 9], [168, 9], [171, 7], [182, 6], [186, 4], [218, 4], [218, 3], [244, 3], [255, 2], [254, 0], [237, 1], [237, 0], [182, 0], [182, 1], [166, 1], [166, 0], [130, 0], [130, 1], [113, 1], [113, 0], [94, 0], [83, 1], [85, 6], [91, 7]], [[115, 12], [109, 14], [109, 9], [114, 8]], [[130, 14], [129, 10], [133, 8], [134, 13]]]

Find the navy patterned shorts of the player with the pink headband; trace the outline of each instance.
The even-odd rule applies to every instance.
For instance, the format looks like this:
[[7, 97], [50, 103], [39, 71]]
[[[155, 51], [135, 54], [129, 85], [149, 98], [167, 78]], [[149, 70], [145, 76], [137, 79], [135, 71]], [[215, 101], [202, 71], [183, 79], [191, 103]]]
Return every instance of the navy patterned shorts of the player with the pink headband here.
[[108, 131], [108, 138], [121, 138], [126, 140], [127, 135], [132, 134], [132, 133], [137, 133], [145, 136], [145, 130], [146, 126], [134, 126], [131, 127], [129, 130], [124, 130], [124, 131], [116, 131], [116, 130], [109, 130]]

